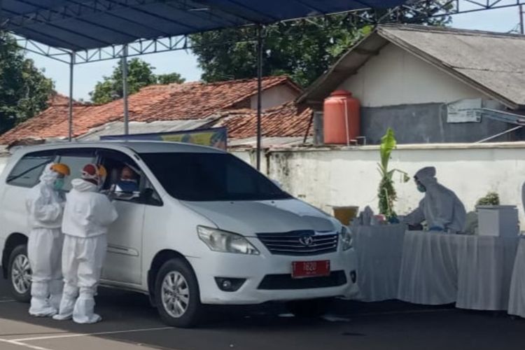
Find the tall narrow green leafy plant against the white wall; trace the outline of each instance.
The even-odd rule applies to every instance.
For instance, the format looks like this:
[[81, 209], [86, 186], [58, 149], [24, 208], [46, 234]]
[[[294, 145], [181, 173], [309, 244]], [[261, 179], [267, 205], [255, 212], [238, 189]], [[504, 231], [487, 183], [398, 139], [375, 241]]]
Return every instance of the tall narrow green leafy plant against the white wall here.
[[393, 130], [389, 127], [386, 130], [384, 137], [381, 137], [381, 147], [379, 152], [381, 154], [381, 163], [379, 166], [379, 174], [381, 174], [381, 181], [379, 182], [379, 214], [383, 214], [387, 219], [395, 218], [396, 214], [393, 208], [394, 202], [398, 199], [397, 193], [393, 186], [393, 174], [399, 172], [402, 174], [402, 181], [409, 181], [409, 176], [406, 172], [399, 169], [388, 169], [388, 162], [391, 158], [393, 149], [397, 146]]

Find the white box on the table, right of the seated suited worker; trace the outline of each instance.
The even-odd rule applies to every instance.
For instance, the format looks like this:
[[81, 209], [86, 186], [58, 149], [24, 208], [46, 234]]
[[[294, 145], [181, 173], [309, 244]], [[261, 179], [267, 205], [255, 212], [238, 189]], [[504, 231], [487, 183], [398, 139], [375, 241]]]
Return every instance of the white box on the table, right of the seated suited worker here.
[[480, 236], [519, 235], [518, 209], [515, 205], [480, 205], [476, 209]]

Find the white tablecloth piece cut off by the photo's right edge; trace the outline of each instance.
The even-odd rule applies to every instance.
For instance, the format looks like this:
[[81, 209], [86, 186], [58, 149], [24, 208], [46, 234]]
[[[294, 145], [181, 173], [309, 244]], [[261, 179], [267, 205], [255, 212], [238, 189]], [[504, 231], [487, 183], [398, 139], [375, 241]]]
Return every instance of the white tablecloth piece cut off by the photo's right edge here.
[[525, 317], [525, 237], [519, 239], [512, 282], [510, 283], [509, 314]]

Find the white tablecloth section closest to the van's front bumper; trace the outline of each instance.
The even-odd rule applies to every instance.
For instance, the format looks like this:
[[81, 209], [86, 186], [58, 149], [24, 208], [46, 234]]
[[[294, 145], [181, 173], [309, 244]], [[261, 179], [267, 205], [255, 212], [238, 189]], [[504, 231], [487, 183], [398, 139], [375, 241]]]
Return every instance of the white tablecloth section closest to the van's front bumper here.
[[397, 298], [405, 229], [405, 225], [354, 229], [360, 300], [374, 302]]

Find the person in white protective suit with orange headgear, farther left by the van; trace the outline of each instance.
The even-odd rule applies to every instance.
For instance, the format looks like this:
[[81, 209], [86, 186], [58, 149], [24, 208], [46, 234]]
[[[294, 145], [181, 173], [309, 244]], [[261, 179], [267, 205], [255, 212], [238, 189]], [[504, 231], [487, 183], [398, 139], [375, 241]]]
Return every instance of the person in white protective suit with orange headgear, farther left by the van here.
[[29, 192], [26, 200], [29, 214], [27, 256], [31, 265], [32, 316], [53, 316], [62, 297], [62, 213], [64, 202], [58, 191], [64, 185], [69, 167], [50, 164], [40, 176], [40, 183]]

